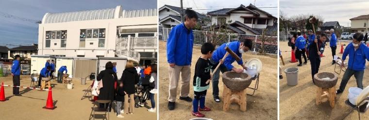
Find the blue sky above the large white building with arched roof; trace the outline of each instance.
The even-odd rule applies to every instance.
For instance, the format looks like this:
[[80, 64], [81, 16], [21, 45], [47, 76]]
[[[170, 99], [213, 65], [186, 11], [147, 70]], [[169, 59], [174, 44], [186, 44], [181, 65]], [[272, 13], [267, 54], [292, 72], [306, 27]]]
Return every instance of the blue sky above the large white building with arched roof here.
[[[42, 20], [46, 13], [72, 12], [122, 5], [125, 10], [157, 8], [156, 0], [1, 0], [0, 45], [31, 45], [38, 43], [38, 24], [3, 16], [14, 15], [32, 20]], [[1, 14], [3, 13], [3, 14]]]

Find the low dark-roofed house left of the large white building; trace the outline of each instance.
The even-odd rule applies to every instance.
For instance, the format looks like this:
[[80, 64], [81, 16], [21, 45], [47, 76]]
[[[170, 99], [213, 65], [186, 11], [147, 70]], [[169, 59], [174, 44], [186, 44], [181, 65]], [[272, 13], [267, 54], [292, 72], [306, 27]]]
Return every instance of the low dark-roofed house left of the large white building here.
[[19, 55], [20, 57], [26, 57], [25, 60], [31, 60], [31, 55], [37, 55], [37, 47], [38, 44], [10, 48], [8, 51], [8, 59], [13, 60], [11, 56]]

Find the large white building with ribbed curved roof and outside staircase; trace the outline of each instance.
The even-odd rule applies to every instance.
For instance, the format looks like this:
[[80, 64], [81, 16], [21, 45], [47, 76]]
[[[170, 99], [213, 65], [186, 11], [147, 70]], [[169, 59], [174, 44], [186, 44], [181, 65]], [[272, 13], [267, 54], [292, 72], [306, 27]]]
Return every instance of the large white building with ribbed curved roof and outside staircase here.
[[[39, 24], [38, 55], [157, 60], [157, 10], [116, 8], [46, 13]], [[145, 63], [146, 62], [146, 63]]]

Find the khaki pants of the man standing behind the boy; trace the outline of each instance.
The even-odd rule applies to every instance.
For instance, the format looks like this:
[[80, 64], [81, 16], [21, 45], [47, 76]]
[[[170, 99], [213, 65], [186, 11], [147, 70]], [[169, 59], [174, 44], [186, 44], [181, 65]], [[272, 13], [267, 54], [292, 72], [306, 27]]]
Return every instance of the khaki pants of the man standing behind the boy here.
[[191, 78], [191, 66], [177, 66], [174, 68], [169, 66], [169, 102], [175, 102], [177, 97], [177, 87], [179, 82], [179, 75], [181, 74], [181, 97], [188, 97], [190, 92], [190, 78]]

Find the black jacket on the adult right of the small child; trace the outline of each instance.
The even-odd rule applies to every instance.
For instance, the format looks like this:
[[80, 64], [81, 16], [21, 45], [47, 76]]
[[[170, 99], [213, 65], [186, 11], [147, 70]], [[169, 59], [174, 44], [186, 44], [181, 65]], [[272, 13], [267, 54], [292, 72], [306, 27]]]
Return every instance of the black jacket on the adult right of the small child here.
[[123, 81], [123, 90], [126, 91], [127, 94], [134, 94], [134, 85], [138, 83], [139, 79], [140, 78], [134, 67], [124, 69], [122, 77], [120, 78], [120, 80]]

